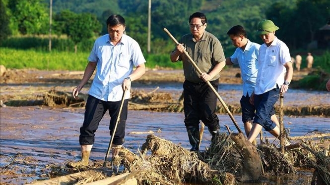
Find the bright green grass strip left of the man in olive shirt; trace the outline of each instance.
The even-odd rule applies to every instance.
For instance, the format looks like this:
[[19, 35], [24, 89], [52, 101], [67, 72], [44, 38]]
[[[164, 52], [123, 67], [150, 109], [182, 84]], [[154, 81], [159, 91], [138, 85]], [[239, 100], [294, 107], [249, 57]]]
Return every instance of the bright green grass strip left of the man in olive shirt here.
[[[69, 70], [83, 71], [87, 65], [89, 52], [36, 51], [0, 48], [0, 61], [9, 69]], [[181, 69], [182, 63], [172, 63], [168, 54], [144, 54], [148, 68]]]

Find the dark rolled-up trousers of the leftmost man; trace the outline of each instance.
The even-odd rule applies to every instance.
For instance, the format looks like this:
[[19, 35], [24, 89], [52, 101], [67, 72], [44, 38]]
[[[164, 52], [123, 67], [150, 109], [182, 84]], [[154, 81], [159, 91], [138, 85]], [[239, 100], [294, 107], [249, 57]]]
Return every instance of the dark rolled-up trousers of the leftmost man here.
[[129, 100], [124, 100], [120, 121], [116, 128], [116, 133], [113, 135], [117, 117], [119, 114], [121, 101], [102, 101], [94, 96], [88, 95], [85, 107], [85, 118], [80, 127], [79, 143], [81, 145], [94, 144], [95, 132], [99, 127], [99, 123], [107, 110], [109, 110], [110, 119], [110, 135], [114, 137], [113, 143], [121, 145], [124, 143], [125, 127], [128, 112]]

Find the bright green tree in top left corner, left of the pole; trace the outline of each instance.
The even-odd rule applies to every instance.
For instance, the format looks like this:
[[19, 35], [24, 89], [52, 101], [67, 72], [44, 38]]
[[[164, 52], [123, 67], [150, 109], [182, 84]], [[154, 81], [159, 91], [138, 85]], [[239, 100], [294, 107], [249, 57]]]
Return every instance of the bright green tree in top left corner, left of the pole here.
[[9, 0], [11, 22], [19, 33], [47, 34], [49, 29], [48, 8], [42, 0]]

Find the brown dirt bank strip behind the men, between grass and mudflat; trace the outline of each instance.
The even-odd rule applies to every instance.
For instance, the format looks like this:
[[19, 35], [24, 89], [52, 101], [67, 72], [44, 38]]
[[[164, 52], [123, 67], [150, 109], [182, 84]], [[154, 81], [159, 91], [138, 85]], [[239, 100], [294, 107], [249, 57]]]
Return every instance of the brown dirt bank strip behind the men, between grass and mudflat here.
[[[7, 106], [50, 105], [45, 102], [45, 95], [51, 90], [70, 92], [82, 78], [82, 71], [40, 71], [40, 70], [5, 70], [1, 71], [0, 99]], [[308, 74], [307, 71], [294, 72], [292, 84]], [[184, 76], [182, 70], [147, 70], [142, 78], [132, 83], [131, 110], [152, 110], [181, 112], [178, 104], [182, 92]], [[81, 94], [87, 94], [91, 81], [85, 85]], [[241, 97], [239, 68], [227, 68], [221, 72], [219, 94], [233, 114], [240, 114]], [[70, 99], [69, 99], [70, 100]], [[84, 105], [69, 101], [60, 106]], [[278, 105], [276, 105], [278, 109]], [[226, 113], [218, 102], [218, 113]], [[330, 94], [306, 90], [289, 90], [284, 101], [284, 114], [292, 116], [330, 116]]]

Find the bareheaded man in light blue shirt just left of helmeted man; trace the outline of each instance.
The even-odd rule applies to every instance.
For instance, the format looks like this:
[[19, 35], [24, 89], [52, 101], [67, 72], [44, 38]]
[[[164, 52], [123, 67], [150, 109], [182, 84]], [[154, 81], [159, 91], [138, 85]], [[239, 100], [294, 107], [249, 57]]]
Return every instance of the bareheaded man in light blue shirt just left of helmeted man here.
[[[255, 105], [250, 103], [250, 96], [256, 86], [258, 74], [258, 56], [260, 45], [251, 42], [247, 38], [247, 33], [241, 25], [230, 28], [227, 32], [232, 44], [236, 47], [233, 55], [226, 58], [226, 65], [238, 64], [241, 69], [243, 80], [243, 95], [240, 103], [242, 107], [242, 121], [247, 137], [250, 134], [253, 118], [255, 117]], [[279, 126], [279, 122], [275, 115], [275, 109], [270, 112], [271, 120]]]

